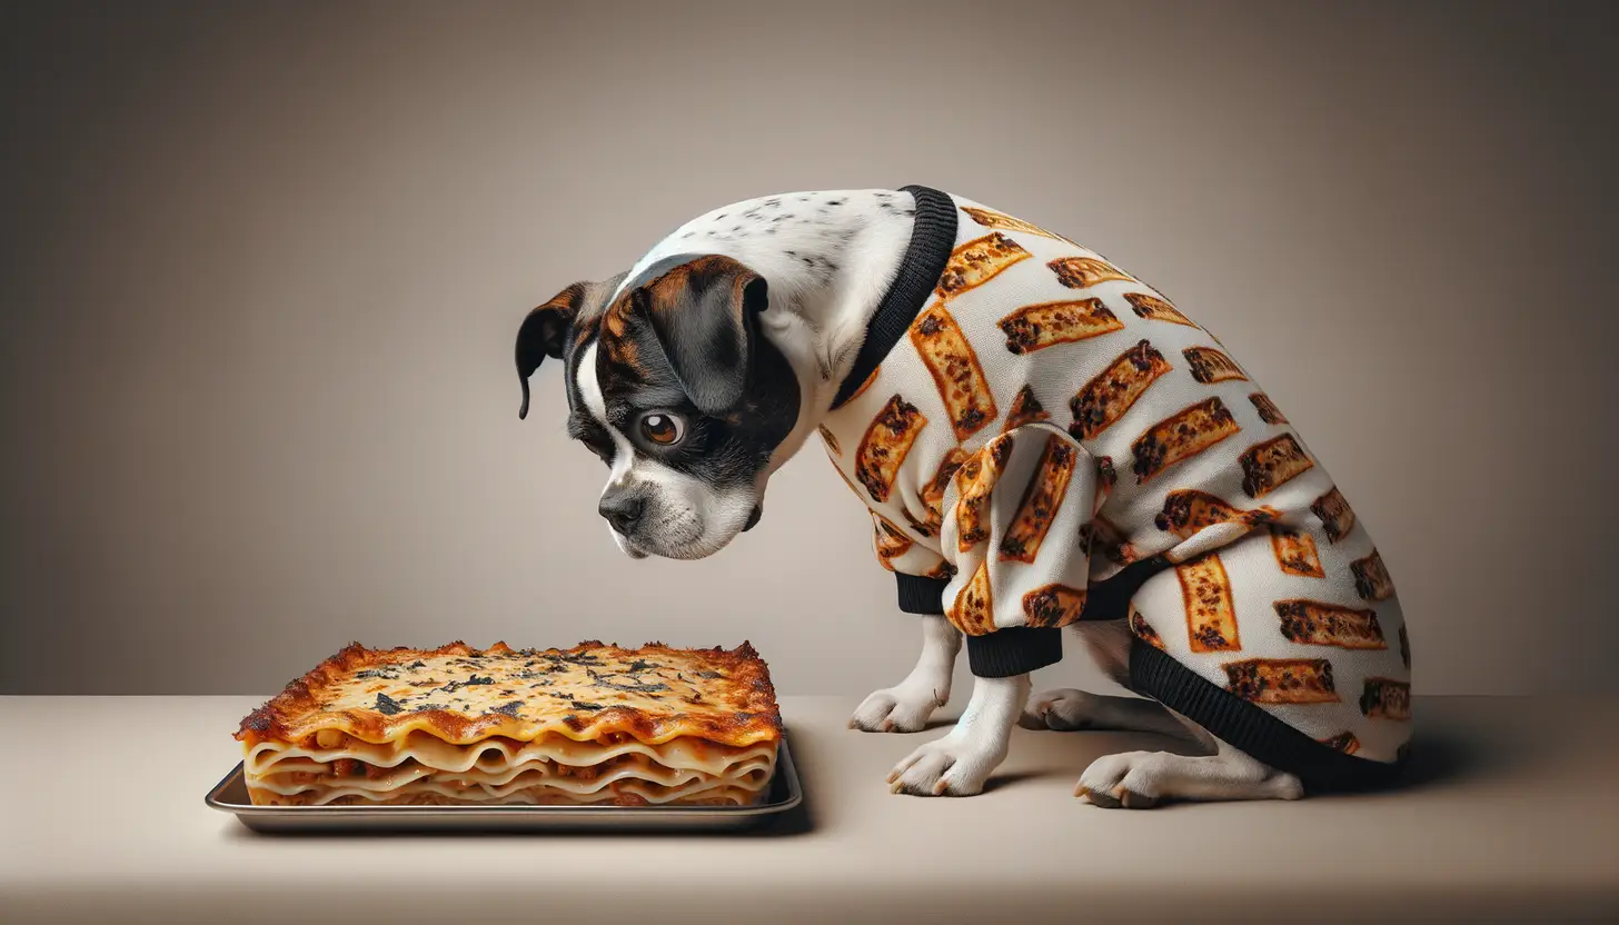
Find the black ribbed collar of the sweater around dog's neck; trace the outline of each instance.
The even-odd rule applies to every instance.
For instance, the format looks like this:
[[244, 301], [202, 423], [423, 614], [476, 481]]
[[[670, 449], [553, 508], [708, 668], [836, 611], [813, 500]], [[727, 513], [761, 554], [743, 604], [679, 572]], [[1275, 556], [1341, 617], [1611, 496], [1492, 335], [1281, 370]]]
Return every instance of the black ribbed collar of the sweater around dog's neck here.
[[944, 264], [950, 261], [950, 249], [955, 248], [955, 201], [928, 186], [902, 186], [900, 191], [916, 199], [916, 225], [911, 228], [910, 246], [900, 259], [894, 285], [866, 322], [866, 339], [855, 355], [855, 368], [839, 386], [832, 408], [847, 402], [871, 377], [900, 337], [905, 337], [905, 329], [916, 321], [928, 293], [939, 285]]

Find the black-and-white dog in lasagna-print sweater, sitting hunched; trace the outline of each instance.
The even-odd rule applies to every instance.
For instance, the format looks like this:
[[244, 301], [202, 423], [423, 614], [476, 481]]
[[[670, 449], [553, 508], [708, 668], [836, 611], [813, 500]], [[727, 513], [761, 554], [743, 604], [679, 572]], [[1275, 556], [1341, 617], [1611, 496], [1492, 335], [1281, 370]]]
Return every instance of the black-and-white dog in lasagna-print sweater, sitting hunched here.
[[[821, 439], [923, 637], [850, 726], [920, 731], [963, 645], [973, 669], [895, 792], [981, 792], [1017, 724], [1198, 744], [1091, 763], [1075, 792], [1107, 808], [1405, 765], [1410, 646], [1365, 523], [1213, 332], [1059, 233], [926, 186], [748, 199], [531, 309], [515, 355], [520, 416], [563, 363], [630, 557], [722, 549]], [[1030, 697], [1064, 635], [1138, 697]]]

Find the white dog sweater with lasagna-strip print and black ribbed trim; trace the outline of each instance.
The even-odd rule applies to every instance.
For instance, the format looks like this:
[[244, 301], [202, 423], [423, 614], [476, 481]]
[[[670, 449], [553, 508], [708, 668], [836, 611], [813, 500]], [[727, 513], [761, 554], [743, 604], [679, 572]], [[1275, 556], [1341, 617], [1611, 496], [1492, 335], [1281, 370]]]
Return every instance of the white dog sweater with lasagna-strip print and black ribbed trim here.
[[1396, 761], [1392, 582], [1248, 371], [1096, 251], [905, 191], [908, 251], [821, 426], [900, 609], [944, 614], [981, 677], [1127, 619], [1132, 685], [1256, 758], [1329, 784]]

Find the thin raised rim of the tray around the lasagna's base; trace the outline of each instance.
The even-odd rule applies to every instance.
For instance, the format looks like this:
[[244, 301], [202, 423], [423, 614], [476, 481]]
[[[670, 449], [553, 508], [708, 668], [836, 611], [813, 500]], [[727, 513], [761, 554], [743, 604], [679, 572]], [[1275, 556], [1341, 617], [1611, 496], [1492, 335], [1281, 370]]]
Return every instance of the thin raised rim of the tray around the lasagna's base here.
[[[793, 763], [792, 748], [787, 747], [787, 734], [784, 732], [776, 745], [776, 774], [771, 776], [767, 784], [771, 789], [776, 787], [776, 779], [782, 778], [787, 784], [787, 799], [776, 804], [759, 804], [751, 807], [617, 807], [609, 804], [562, 804], [562, 805], [531, 805], [531, 804], [448, 804], [448, 805], [316, 805], [316, 807], [261, 807], [254, 804], [232, 804], [220, 799], [225, 787], [240, 774], [244, 773], [246, 761], [236, 761], [236, 766], [225, 773], [212, 787], [209, 787], [207, 795], [202, 797], [202, 804], [210, 810], [219, 810], [222, 813], [230, 813], [233, 816], [277, 816], [277, 818], [296, 818], [296, 815], [306, 815], [312, 818], [400, 818], [402, 821], [410, 818], [452, 818], [458, 815], [468, 816], [468, 821], [476, 821], [479, 816], [555, 816], [554, 821], [562, 821], [570, 815], [588, 815], [606, 818], [609, 815], [623, 813], [627, 816], [636, 818], [667, 818], [670, 821], [682, 816], [693, 820], [714, 820], [714, 818], [748, 818], [748, 816], [771, 816], [777, 813], [785, 813], [803, 804], [803, 782], [798, 778], [798, 766]], [[293, 816], [287, 816], [291, 813]], [[244, 820], [243, 820], [244, 821]], [[633, 821], [625, 818], [625, 823]]]

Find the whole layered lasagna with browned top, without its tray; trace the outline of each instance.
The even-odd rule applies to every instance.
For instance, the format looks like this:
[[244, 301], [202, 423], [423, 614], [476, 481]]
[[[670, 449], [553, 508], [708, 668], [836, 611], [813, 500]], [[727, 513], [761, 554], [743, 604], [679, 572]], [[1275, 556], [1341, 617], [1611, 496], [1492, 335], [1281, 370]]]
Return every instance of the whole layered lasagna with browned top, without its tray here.
[[751, 645], [599, 642], [353, 643], [236, 732], [256, 805], [751, 805], [780, 737]]

